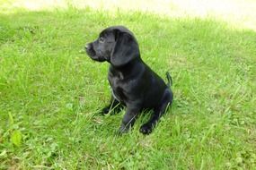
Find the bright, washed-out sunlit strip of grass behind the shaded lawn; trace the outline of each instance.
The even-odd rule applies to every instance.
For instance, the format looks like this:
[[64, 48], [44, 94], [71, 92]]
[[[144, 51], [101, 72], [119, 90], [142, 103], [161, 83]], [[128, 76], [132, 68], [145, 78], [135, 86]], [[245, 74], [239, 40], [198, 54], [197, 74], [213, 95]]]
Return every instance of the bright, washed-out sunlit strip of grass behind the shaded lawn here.
[[252, 0], [1, 0], [2, 13], [15, 13], [19, 8], [29, 11], [68, 9], [75, 7], [108, 11], [108, 13], [144, 12], [169, 17], [214, 17], [232, 23], [237, 28], [256, 30], [256, 2]]

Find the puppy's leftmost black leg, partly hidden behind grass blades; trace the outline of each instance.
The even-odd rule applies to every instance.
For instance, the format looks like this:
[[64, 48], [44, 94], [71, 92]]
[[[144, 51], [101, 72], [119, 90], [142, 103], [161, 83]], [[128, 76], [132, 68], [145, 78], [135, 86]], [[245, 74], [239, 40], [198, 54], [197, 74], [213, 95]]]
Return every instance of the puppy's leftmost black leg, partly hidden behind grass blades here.
[[119, 113], [123, 106], [120, 104], [119, 100], [111, 96], [110, 98], [110, 104], [108, 106], [105, 106], [102, 108], [102, 111], [100, 112], [102, 115], [106, 115], [109, 113]]

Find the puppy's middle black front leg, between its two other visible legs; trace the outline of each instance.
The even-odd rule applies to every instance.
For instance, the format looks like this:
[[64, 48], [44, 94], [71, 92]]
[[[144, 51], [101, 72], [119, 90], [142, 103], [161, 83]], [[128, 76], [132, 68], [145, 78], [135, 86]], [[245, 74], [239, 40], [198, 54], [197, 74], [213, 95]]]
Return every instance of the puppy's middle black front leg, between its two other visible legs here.
[[131, 128], [135, 123], [139, 110], [140, 109], [137, 107], [128, 106], [127, 112], [124, 115], [121, 126], [119, 128], [119, 133], [128, 132], [129, 128]]

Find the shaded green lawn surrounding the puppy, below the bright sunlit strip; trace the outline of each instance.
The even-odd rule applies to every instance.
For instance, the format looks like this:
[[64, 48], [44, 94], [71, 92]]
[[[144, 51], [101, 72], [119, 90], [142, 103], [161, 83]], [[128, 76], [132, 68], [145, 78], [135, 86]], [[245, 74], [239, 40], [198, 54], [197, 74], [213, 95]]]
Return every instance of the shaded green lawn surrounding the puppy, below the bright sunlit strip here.
[[[1, 9], [1, 8], [0, 8]], [[152, 134], [115, 136], [124, 111], [108, 64], [81, 53], [111, 25], [133, 30], [174, 103]], [[92, 9], [0, 13], [0, 169], [255, 169], [256, 32], [215, 18]], [[21, 138], [21, 139], [20, 139]]]

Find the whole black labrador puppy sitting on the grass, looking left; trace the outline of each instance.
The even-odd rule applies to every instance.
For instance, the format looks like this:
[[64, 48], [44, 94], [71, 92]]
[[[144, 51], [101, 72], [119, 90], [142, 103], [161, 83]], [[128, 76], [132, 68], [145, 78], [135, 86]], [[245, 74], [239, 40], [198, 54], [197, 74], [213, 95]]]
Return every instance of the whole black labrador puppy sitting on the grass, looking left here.
[[102, 30], [99, 38], [85, 46], [86, 53], [94, 61], [109, 62], [108, 80], [111, 86], [110, 105], [102, 114], [119, 111], [127, 106], [119, 132], [128, 132], [143, 109], [153, 109], [150, 120], [143, 124], [140, 132], [149, 134], [155, 124], [172, 104], [172, 78], [166, 72], [165, 84], [141, 59], [137, 39], [123, 26]]

